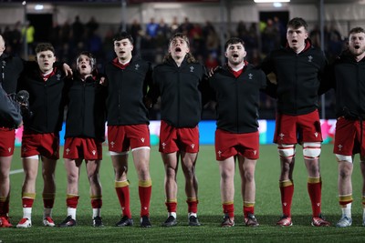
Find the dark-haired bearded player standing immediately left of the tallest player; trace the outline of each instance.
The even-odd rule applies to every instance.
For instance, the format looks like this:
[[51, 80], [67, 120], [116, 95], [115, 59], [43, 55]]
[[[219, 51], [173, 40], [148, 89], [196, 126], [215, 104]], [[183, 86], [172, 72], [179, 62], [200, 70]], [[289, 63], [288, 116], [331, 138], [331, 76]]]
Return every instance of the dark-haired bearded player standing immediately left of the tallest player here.
[[255, 164], [259, 157], [258, 105], [266, 75], [245, 61], [244, 41], [230, 38], [224, 45], [227, 65], [209, 78], [216, 101], [215, 157], [221, 174], [224, 211], [222, 227], [235, 226], [235, 160], [241, 176], [245, 225], [255, 218]]

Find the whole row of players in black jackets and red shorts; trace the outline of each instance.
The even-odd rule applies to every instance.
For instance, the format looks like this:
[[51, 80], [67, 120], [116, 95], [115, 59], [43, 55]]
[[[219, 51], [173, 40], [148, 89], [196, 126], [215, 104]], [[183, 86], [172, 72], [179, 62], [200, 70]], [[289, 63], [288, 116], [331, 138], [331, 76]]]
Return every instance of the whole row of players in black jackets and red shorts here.
[[[281, 162], [279, 187], [283, 215], [276, 225], [289, 227], [293, 224], [293, 169], [296, 145], [299, 144], [303, 146], [308, 170], [308, 194], [313, 212], [311, 224], [327, 227], [330, 223], [321, 213], [319, 155], [322, 137], [317, 102], [318, 96], [330, 88], [336, 89], [339, 101], [334, 153], [339, 161], [339, 204], [342, 217], [336, 226], [349, 227], [352, 224], [350, 177], [356, 153], [360, 153], [361, 171], [365, 177], [365, 146], [362, 142], [365, 107], [360, 102], [360, 95], [365, 94], [365, 90], [359, 86], [364, 77], [355, 75], [360, 74], [364, 68], [362, 59], [365, 56], [365, 32], [362, 28], [351, 29], [348, 50], [329, 66], [323, 53], [311, 46], [308, 25], [302, 18], [293, 18], [288, 22], [287, 46], [272, 51], [260, 67], [245, 61], [245, 44], [236, 37], [225, 43], [226, 65], [209, 74], [190, 52], [187, 36], [180, 33], [172, 36], [168, 54], [162, 64], [153, 69], [151, 63], [139, 56], [132, 56], [134, 46], [129, 34], [123, 32], [116, 35], [113, 45], [117, 57], [106, 65], [103, 74], [99, 74], [96, 60], [89, 52], [78, 55], [77, 68], [72, 71], [68, 65], [56, 62], [55, 50], [48, 43], [36, 46], [35, 62], [6, 56], [4, 39], [0, 35], [2, 94], [4, 91], [11, 94], [16, 93], [16, 90], [26, 90], [29, 93], [29, 109], [32, 111], [31, 116], [23, 117], [23, 218], [16, 228], [32, 226], [39, 162], [42, 163], [44, 179], [43, 224], [56, 226], [52, 219], [52, 209], [56, 196], [55, 170], [59, 158], [58, 132], [62, 126], [65, 106], [68, 109], [63, 157], [68, 175], [68, 217], [58, 226], [77, 225], [78, 176], [84, 160], [90, 186], [92, 225], [103, 226], [100, 216], [102, 189], [99, 167], [107, 120], [115, 190], [121, 208], [121, 218], [116, 226], [128, 227], [134, 224], [130, 212], [128, 180], [130, 152], [139, 180], [140, 226], [150, 228], [152, 182], [148, 110], [158, 98], [161, 99], [162, 115], [159, 151], [165, 169], [165, 205], [168, 211], [168, 218], [162, 226], [177, 225], [176, 176], [179, 162], [185, 178], [188, 224], [201, 226], [197, 216], [199, 200], [195, 175], [199, 151], [197, 125], [202, 106], [208, 100], [214, 100], [217, 104], [215, 154], [221, 175], [224, 212], [221, 226], [235, 226], [235, 161], [242, 182], [244, 223], [249, 227], [259, 226], [255, 218], [255, 164], [259, 157], [257, 119], [260, 92], [277, 100], [274, 140]], [[276, 77], [275, 80], [267, 78], [272, 75]], [[343, 96], [352, 98], [344, 99]], [[8, 111], [0, 109], [0, 112], [4, 114]], [[15, 128], [21, 123], [17, 119], [9, 126], [5, 120], [7, 118], [1, 117], [0, 227], [7, 228], [12, 227], [8, 218], [9, 171], [14, 153]], [[362, 198], [365, 207], [365, 192]], [[365, 209], [363, 225], [365, 226]]]

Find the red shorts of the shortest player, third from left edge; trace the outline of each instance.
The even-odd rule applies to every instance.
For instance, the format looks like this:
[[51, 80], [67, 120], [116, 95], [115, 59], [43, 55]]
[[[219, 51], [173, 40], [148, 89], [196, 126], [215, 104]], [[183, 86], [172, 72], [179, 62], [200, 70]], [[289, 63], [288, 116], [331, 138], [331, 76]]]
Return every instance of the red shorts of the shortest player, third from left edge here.
[[102, 143], [94, 138], [67, 137], [63, 157], [69, 159], [102, 159]]

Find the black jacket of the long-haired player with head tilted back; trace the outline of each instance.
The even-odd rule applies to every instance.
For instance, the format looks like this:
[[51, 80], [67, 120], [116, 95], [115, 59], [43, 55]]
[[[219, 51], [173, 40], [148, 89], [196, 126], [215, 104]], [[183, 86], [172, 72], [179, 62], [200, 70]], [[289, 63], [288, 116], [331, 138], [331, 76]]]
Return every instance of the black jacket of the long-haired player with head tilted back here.
[[173, 127], [196, 127], [202, 116], [200, 87], [206, 82], [205, 67], [188, 63], [177, 66], [170, 57], [153, 69], [153, 100], [161, 96], [161, 119]]

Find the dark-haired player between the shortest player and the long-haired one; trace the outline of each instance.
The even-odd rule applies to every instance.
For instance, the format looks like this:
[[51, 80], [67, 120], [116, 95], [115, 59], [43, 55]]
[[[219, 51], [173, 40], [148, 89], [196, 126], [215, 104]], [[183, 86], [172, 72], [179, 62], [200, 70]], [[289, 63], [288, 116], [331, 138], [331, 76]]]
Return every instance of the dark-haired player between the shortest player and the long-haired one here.
[[117, 57], [105, 67], [108, 84], [108, 145], [115, 171], [115, 190], [122, 210], [116, 226], [133, 225], [128, 180], [128, 157], [131, 152], [139, 180], [140, 226], [150, 228], [150, 120], [148, 107], [143, 101], [151, 86], [152, 67], [150, 62], [140, 56], [132, 56], [133, 41], [126, 32], [115, 35], [113, 45]]

